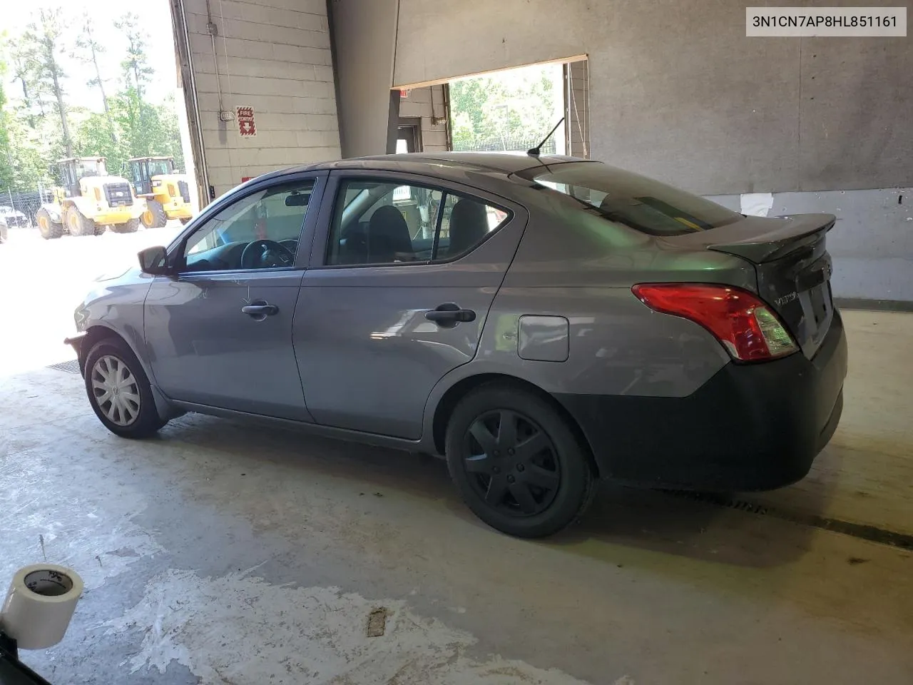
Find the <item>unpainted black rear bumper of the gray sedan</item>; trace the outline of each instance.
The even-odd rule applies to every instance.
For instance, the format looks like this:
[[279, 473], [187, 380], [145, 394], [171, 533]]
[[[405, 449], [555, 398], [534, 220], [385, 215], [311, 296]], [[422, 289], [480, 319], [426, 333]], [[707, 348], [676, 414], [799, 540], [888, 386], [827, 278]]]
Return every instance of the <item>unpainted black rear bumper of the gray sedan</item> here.
[[557, 395], [604, 477], [651, 487], [772, 490], [802, 479], [843, 411], [840, 313], [813, 359], [726, 364], [687, 397]]

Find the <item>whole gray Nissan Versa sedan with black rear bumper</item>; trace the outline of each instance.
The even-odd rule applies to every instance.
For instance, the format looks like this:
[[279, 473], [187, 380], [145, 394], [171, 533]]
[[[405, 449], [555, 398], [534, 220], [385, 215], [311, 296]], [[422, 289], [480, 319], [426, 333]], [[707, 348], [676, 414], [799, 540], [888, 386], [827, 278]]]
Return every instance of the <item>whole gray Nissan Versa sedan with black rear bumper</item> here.
[[834, 216], [742, 216], [569, 157], [408, 154], [237, 187], [76, 311], [123, 437], [261, 416], [446, 457], [533, 537], [597, 479], [802, 479], [843, 406]]

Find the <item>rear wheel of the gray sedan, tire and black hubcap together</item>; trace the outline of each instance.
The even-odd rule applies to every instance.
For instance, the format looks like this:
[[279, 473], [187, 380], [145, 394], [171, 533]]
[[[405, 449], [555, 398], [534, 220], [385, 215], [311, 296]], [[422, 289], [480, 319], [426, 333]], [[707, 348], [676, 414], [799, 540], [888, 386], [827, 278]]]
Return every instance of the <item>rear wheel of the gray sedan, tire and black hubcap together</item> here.
[[[502, 425], [513, 426], [503, 439]], [[481, 385], [460, 400], [447, 424], [446, 459], [469, 509], [509, 535], [551, 535], [593, 499], [593, 469], [571, 427], [546, 400], [516, 385]]]

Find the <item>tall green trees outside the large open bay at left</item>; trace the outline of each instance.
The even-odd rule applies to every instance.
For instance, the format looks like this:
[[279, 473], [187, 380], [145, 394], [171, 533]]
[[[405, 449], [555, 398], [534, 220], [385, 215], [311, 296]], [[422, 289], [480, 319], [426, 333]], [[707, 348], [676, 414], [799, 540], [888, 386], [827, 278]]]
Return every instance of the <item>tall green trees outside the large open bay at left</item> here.
[[[173, 156], [184, 168], [181, 136], [173, 96], [161, 104], [145, 99], [154, 70], [146, 55], [147, 33], [138, 16], [127, 13], [117, 26], [126, 38], [119, 86], [106, 90], [98, 56], [111, 46], [98, 22], [68, 20], [60, 10], [42, 9], [16, 39], [6, 38], [0, 51], [0, 188], [35, 188], [56, 183], [47, 167], [67, 154], [103, 156], [110, 174], [120, 174], [131, 157]], [[105, 111], [67, 106], [67, 75], [61, 56], [79, 58], [94, 71], [85, 85], [97, 88]], [[4, 72], [5, 67], [5, 72]], [[5, 97], [4, 84], [14, 83], [16, 105]], [[21, 92], [20, 92], [21, 89]]]

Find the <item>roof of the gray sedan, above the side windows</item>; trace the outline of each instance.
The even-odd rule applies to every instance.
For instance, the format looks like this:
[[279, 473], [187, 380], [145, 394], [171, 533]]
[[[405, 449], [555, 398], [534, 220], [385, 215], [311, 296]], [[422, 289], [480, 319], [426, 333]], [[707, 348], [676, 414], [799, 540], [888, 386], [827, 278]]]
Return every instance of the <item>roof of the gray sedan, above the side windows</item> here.
[[368, 169], [373, 171], [398, 171], [409, 174], [424, 174], [436, 178], [457, 180], [467, 171], [509, 176], [525, 169], [548, 164], [566, 162], [588, 162], [578, 157], [558, 154], [533, 156], [527, 153], [405, 153], [380, 154], [373, 157], [352, 157], [350, 159], [304, 164], [301, 166], [270, 172], [261, 179], [295, 174], [303, 171]]

